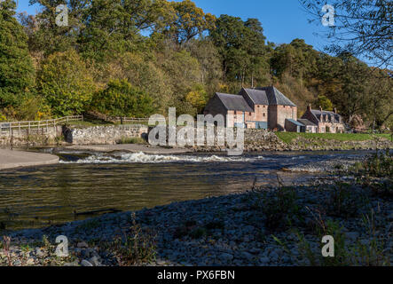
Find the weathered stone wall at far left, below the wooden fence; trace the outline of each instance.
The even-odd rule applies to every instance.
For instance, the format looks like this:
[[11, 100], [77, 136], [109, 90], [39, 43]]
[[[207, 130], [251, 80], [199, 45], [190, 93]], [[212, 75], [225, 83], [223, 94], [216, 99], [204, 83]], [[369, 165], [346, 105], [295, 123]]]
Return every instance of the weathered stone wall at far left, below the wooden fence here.
[[61, 139], [61, 126], [51, 126], [40, 130], [0, 130], [0, 146], [46, 146]]

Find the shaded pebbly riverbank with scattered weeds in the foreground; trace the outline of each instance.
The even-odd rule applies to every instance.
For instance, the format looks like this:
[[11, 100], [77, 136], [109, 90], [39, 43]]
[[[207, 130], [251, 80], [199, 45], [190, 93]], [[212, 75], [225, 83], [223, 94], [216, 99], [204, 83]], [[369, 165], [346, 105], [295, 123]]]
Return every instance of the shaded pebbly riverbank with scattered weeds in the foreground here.
[[[248, 193], [143, 209], [134, 218], [122, 212], [9, 233], [11, 241], [3, 241], [0, 264], [392, 264], [391, 195], [372, 190], [373, 185], [354, 185], [355, 178], [347, 177], [348, 184], [334, 180], [337, 177], [297, 188], [255, 185]], [[389, 182], [382, 178], [378, 186], [391, 190]], [[68, 257], [54, 255], [59, 235], [68, 238]], [[323, 235], [334, 236], [334, 258], [321, 256]], [[127, 236], [137, 238], [138, 245], [131, 247], [138, 247], [137, 258], [143, 255], [143, 260], [124, 256], [132, 254], [130, 249], [114, 249], [117, 236], [123, 238], [122, 247]]]

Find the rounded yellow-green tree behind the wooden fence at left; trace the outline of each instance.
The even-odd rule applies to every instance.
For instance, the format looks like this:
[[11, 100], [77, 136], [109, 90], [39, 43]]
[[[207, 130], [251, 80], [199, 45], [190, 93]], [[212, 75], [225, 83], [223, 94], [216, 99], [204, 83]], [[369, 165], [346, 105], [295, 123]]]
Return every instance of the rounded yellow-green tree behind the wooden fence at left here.
[[74, 50], [45, 59], [37, 80], [39, 93], [59, 116], [83, 113], [96, 89], [89, 69]]

